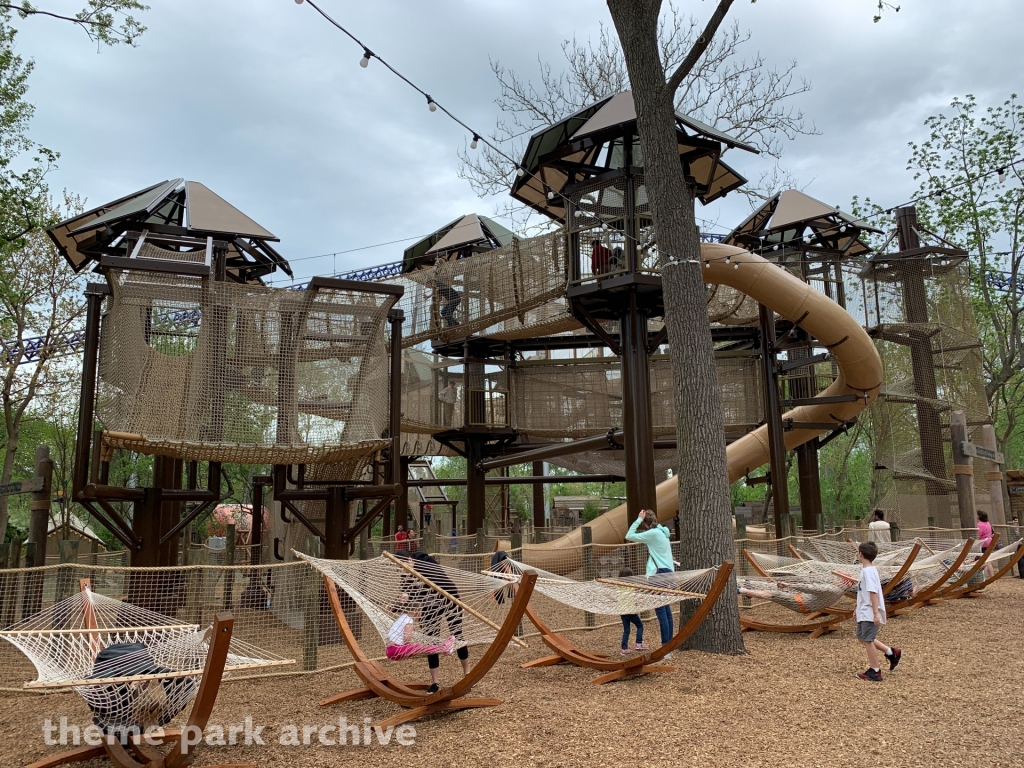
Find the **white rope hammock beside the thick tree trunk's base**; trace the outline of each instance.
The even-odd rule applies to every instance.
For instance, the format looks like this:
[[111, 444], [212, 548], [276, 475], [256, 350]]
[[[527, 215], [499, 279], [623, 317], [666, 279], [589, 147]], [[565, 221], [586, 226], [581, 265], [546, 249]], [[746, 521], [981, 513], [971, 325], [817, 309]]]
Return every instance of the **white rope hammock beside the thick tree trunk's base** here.
[[580, 582], [509, 558], [490, 566], [487, 574], [518, 580], [527, 569], [537, 571], [535, 592], [570, 608], [601, 615], [640, 613], [682, 600], [701, 600], [718, 573], [716, 567], [658, 573], [650, 578], [616, 575]]

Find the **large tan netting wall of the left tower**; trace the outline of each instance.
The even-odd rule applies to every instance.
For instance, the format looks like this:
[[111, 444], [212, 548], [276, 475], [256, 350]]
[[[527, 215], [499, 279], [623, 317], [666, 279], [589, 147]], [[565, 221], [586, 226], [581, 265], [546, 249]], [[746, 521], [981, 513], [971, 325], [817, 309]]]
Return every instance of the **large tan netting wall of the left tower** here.
[[387, 444], [393, 295], [135, 270], [111, 284], [96, 406], [109, 445], [357, 473]]

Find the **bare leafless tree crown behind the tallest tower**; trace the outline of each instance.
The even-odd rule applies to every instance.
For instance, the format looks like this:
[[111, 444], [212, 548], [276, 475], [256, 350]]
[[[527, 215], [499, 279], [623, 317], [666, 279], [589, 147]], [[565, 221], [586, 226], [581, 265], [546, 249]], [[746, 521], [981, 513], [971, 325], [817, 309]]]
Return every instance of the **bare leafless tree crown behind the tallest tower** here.
[[[692, 16], [684, 16], [669, 6], [657, 30], [658, 55], [667, 70], [677, 68], [692, 48], [700, 28]], [[794, 105], [796, 97], [810, 90], [807, 80], [797, 78], [796, 61], [769, 68], [759, 52], [743, 56], [749, 32], [732, 25], [712, 41], [705, 55], [673, 96], [677, 110], [724, 130], [745, 143], [757, 146], [775, 161], [756, 184], [743, 191], [761, 200], [783, 186], [794, 185], [792, 176], [778, 164], [786, 140], [815, 134], [804, 114]], [[501, 87], [496, 100], [500, 117], [488, 135], [505, 155], [522, 157], [528, 134], [558, 122], [589, 104], [630, 88], [629, 73], [614, 34], [603, 25], [597, 40], [577, 38], [562, 43], [565, 67], [556, 71], [540, 61], [535, 84], [500, 61], [490, 69]], [[464, 147], [459, 153], [459, 174], [480, 196], [507, 191], [515, 168], [507, 158], [485, 144], [479, 150]], [[504, 206], [502, 215], [518, 228], [537, 225], [532, 214]]]

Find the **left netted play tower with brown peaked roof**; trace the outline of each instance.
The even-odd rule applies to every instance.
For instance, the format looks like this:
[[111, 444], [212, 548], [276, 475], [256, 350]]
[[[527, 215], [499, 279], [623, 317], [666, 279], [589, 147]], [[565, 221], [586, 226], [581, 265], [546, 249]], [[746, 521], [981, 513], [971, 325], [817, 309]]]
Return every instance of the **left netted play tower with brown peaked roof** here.
[[[100, 236], [83, 233], [96, 227], [121, 234], [96, 251]], [[399, 461], [402, 288], [263, 285], [276, 268], [291, 273], [275, 239], [197, 182], [115, 201], [51, 237], [76, 268], [96, 262], [104, 278], [86, 290], [73, 495], [131, 564], [178, 564], [182, 532], [224, 498], [223, 463], [270, 466], [260, 493], [272, 487], [328, 554], [347, 551], [353, 486], [385, 452]], [[154, 457], [147, 487], [111, 483], [115, 451]], [[357, 495], [380, 504], [395, 486]]]

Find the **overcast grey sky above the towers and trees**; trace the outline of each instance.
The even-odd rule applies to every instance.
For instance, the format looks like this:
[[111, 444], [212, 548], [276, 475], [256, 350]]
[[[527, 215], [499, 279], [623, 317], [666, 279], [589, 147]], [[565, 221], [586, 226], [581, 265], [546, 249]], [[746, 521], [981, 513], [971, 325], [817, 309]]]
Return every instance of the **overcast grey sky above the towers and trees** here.
[[[308, 4], [293, 0], [147, 0], [138, 47], [96, 52], [72, 25], [19, 23], [35, 58], [32, 135], [61, 153], [51, 176], [98, 205], [165, 178], [202, 181], [281, 238], [301, 276], [393, 261], [407, 243], [457, 216], [490, 214], [458, 178], [468, 137]], [[375, 52], [480, 133], [497, 117], [488, 58], [536, 79], [560, 43], [610, 24], [599, 0], [318, 0]], [[38, 3], [72, 13], [83, 0]], [[748, 53], [798, 61], [813, 90], [795, 105], [821, 131], [786, 146], [783, 165], [809, 195], [884, 206], [915, 188], [907, 142], [956, 95], [1001, 102], [1019, 88], [1024, 3], [901, 0], [872, 24], [873, 0], [761, 0], [731, 17]], [[703, 19], [711, 0], [680, 0]], [[756, 177], [756, 163], [732, 164]], [[736, 198], [736, 196], [733, 196]], [[741, 199], [714, 211], [738, 223]]]

